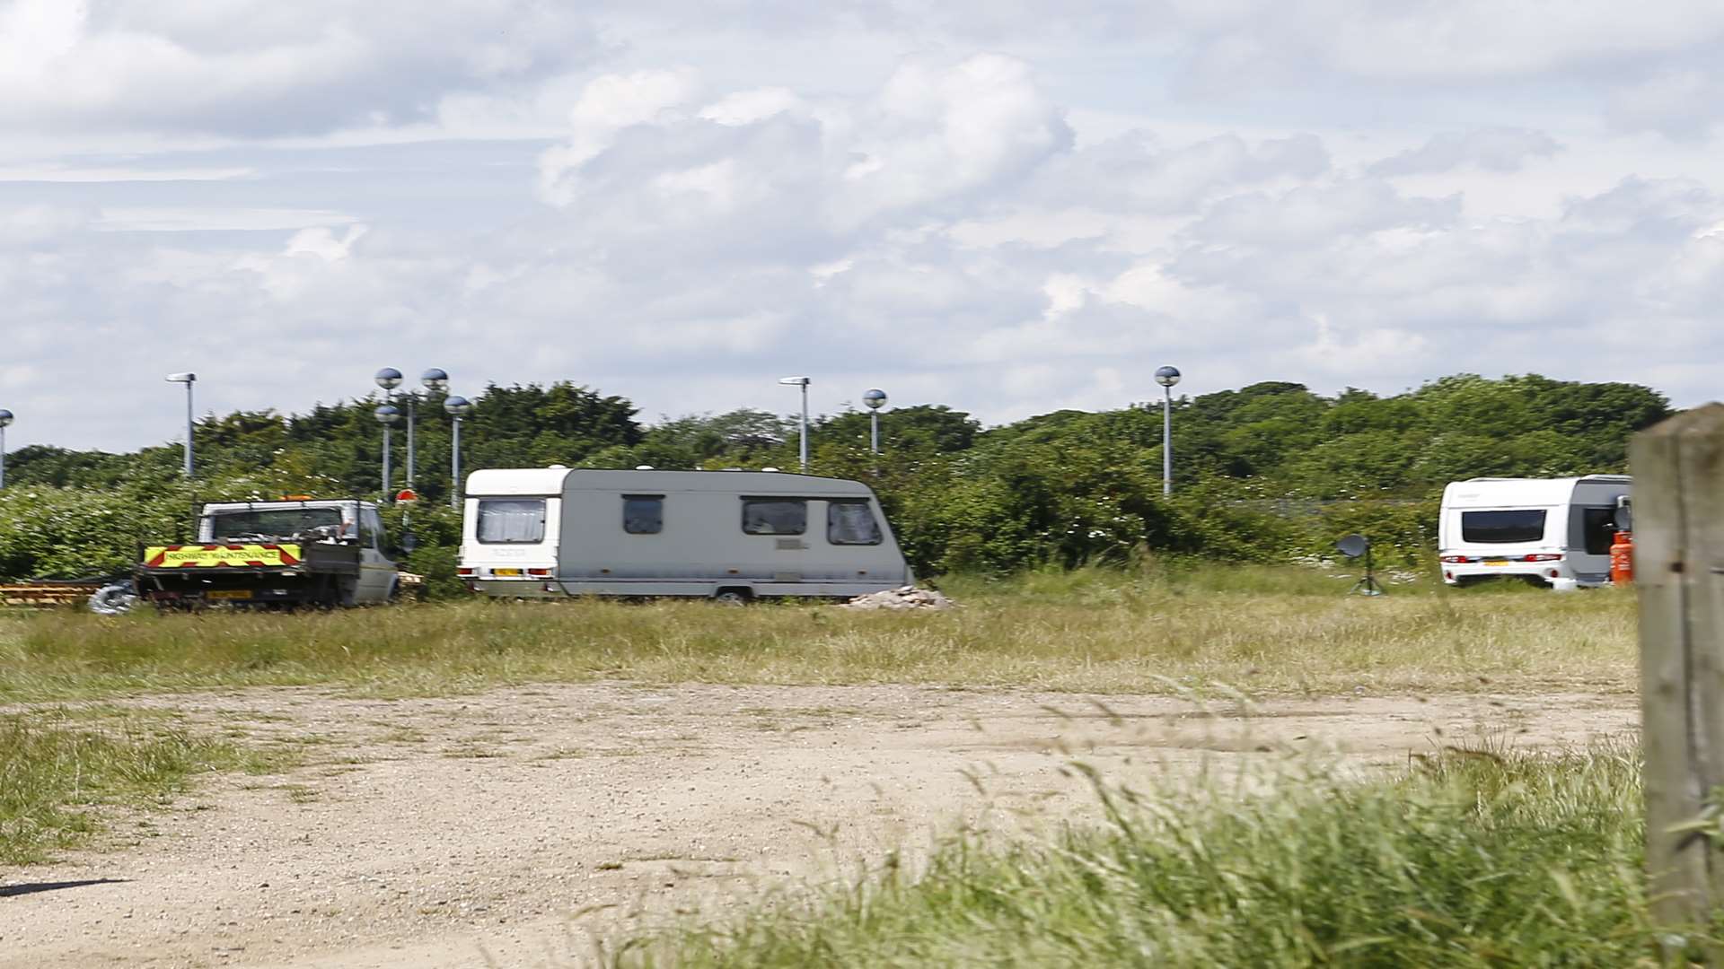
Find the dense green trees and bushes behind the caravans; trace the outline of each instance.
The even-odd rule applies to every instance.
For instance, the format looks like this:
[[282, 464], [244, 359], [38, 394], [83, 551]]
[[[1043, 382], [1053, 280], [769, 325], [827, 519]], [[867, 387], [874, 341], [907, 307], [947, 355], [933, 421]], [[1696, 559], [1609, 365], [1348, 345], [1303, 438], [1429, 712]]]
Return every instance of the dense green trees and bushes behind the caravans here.
[[[376, 398], [309, 414], [241, 410], [195, 426], [198, 476], [176, 445], [133, 453], [31, 445], [7, 457], [0, 578], [117, 571], [136, 543], [178, 536], [193, 500], [374, 497]], [[1321, 395], [1257, 383], [1176, 398], [1174, 495], [1164, 497], [1162, 405], [1057, 410], [984, 428], [924, 403], [845, 410], [810, 428], [810, 472], [874, 484], [921, 574], [1010, 572], [1145, 555], [1290, 560], [1365, 531], [1403, 566], [1434, 552], [1436, 497], [1472, 476], [1621, 472], [1629, 436], [1671, 416], [1627, 383], [1457, 374], [1407, 393]], [[450, 422], [419, 407], [414, 567], [452, 588]], [[395, 434], [395, 486], [405, 434]], [[462, 424], [462, 467], [796, 467], [796, 421], [731, 410], [643, 422], [633, 402], [574, 383], [488, 386]], [[391, 512], [397, 522], [402, 509]]]

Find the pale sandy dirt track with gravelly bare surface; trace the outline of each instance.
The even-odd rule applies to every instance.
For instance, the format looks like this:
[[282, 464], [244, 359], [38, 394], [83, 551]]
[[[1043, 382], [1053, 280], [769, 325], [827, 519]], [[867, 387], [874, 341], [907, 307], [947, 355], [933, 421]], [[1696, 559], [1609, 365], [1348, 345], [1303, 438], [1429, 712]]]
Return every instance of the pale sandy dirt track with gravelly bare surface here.
[[148, 700], [253, 740], [310, 740], [307, 764], [116, 824], [117, 850], [0, 872], [0, 969], [578, 966], [595, 935], [850, 876], [955, 824], [1081, 814], [1071, 759], [1148, 781], [1290, 750], [1398, 764], [1481, 733], [1546, 747], [1638, 724], [1629, 695], [1298, 698], [1248, 717], [1102, 703], [626, 685]]

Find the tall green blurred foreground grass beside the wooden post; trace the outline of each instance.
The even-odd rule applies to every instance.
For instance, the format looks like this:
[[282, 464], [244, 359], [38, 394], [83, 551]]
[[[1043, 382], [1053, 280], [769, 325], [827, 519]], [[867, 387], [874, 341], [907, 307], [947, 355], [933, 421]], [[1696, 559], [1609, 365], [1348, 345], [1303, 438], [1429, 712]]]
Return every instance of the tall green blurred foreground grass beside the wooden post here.
[[[1109, 824], [998, 847], [960, 838], [912, 874], [776, 895], [603, 953], [646, 969], [793, 966], [1658, 966], [1643, 891], [1640, 759], [1446, 755], [1360, 783], [1141, 797]], [[1674, 952], [1665, 947], [1676, 941]]]

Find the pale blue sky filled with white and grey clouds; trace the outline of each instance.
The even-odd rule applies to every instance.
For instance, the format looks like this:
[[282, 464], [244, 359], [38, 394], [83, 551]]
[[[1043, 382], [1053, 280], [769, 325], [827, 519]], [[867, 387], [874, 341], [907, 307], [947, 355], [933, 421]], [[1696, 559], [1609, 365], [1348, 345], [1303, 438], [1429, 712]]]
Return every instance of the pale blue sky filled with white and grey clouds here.
[[1719, 397], [1714, 0], [0, 0], [7, 447], [376, 369], [984, 422]]

